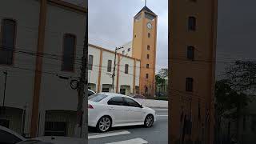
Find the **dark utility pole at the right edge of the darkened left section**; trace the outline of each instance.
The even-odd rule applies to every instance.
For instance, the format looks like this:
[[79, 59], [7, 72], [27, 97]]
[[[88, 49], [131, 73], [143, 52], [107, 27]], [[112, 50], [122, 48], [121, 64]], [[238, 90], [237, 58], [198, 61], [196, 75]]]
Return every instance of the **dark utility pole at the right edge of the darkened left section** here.
[[[85, 86], [87, 88], [88, 83], [88, 74], [87, 74], [87, 58], [88, 55], [88, 14], [86, 13], [86, 31], [84, 38], [84, 46], [82, 51], [82, 66], [81, 73], [78, 82], [78, 110], [77, 110], [77, 137], [78, 138], [87, 138], [87, 130], [88, 127], [88, 90], [85, 90]], [[84, 94], [86, 95], [84, 97]]]

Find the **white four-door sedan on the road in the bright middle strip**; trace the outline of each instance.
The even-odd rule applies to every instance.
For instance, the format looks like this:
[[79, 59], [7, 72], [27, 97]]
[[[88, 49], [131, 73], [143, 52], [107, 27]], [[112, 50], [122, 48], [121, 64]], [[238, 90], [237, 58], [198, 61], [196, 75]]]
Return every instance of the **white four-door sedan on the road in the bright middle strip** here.
[[155, 111], [122, 94], [98, 93], [88, 98], [88, 126], [106, 132], [111, 127], [153, 126]]

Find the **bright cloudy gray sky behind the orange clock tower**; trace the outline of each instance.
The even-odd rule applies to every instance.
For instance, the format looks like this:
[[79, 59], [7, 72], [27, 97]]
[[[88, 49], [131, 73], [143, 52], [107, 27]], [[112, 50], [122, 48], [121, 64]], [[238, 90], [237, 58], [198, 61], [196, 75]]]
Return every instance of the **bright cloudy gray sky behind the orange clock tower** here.
[[[168, 1], [147, 0], [158, 14], [157, 70], [168, 66]], [[89, 42], [114, 50], [132, 40], [133, 18], [144, 6], [143, 0], [89, 0]]]

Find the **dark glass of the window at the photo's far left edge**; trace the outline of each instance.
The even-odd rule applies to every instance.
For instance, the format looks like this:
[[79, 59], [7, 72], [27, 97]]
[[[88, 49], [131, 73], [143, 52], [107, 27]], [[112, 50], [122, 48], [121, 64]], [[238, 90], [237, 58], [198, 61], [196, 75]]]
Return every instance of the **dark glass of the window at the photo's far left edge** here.
[[2, 21], [2, 42], [0, 43], [0, 64], [12, 65], [16, 35], [16, 22], [10, 19]]

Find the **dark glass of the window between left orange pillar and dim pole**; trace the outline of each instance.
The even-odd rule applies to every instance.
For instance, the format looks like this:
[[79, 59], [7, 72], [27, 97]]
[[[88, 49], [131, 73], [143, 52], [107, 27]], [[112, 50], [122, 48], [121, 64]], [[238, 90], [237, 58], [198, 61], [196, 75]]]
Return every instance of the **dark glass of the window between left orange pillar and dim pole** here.
[[76, 38], [72, 34], [65, 34], [64, 36], [64, 50], [62, 54], [62, 70], [74, 70], [74, 49]]

